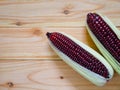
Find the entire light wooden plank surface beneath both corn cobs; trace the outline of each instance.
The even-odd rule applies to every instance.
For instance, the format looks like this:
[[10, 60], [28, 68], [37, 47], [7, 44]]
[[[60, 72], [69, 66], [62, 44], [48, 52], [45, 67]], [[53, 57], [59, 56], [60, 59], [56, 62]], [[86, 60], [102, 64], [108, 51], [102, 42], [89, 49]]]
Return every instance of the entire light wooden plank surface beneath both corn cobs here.
[[120, 29], [120, 0], [0, 0], [0, 90], [120, 90], [117, 73], [96, 87], [48, 45], [46, 32], [58, 31], [98, 51], [85, 28], [88, 12]]

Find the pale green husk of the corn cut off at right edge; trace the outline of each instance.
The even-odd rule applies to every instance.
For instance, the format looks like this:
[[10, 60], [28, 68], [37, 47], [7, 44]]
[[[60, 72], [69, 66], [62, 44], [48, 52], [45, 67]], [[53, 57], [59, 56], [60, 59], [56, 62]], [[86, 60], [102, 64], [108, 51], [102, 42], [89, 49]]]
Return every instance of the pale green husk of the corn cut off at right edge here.
[[[118, 38], [120, 38], [120, 31], [113, 25], [113, 23], [107, 18], [103, 17], [101, 14], [99, 14], [104, 21], [112, 28], [112, 30], [116, 33]], [[107, 59], [107, 61], [112, 65], [112, 67], [115, 69], [115, 71], [120, 74], [120, 63], [107, 51], [107, 49], [100, 43], [100, 41], [96, 38], [96, 36], [91, 32], [89, 26], [86, 22], [86, 27], [88, 30], [88, 33], [90, 34], [92, 40], [100, 50], [100, 52], [103, 54], [103, 56]]]

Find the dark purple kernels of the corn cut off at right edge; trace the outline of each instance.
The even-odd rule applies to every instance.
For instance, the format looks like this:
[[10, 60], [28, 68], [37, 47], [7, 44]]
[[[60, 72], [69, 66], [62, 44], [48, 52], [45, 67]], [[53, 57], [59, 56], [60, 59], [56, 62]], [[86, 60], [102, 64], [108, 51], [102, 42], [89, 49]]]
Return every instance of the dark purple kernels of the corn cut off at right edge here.
[[120, 40], [112, 28], [96, 13], [87, 15], [87, 25], [102, 45], [120, 63]]

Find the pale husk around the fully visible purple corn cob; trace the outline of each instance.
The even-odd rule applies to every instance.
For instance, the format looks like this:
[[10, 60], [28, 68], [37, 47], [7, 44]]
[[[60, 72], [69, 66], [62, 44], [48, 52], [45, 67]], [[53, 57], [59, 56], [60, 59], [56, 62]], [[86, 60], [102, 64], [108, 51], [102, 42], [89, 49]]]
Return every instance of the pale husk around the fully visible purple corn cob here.
[[113, 77], [114, 72], [113, 72], [112, 67], [106, 62], [106, 60], [100, 54], [98, 54], [95, 50], [93, 50], [92, 48], [90, 48], [87, 45], [83, 44], [82, 42], [76, 40], [75, 38], [73, 38], [73, 37], [71, 37], [71, 36], [69, 36], [69, 35], [67, 35], [65, 33], [62, 33], [62, 34], [64, 34], [68, 38], [72, 39], [75, 43], [77, 43], [82, 48], [84, 48], [85, 50], [90, 52], [92, 55], [94, 55], [96, 58], [98, 58], [99, 61], [102, 62], [106, 66], [106, 68], [108, 69], [110, 78], [104, 78], [104, 77], [102, 77], [102, 76], [100, 76], [100, 75], [98, 75], [98, 74], [84, 68], [83, 66], [80, 66], [78, 63], [74, 62], [68, 56], [66, 56], [64, 53], [62, 53], [60, 50], [58, 50], [51, 43], [51, 41], [49, 41], [49, 44], [52, 47], [52, 49], [57, 53], [57, 55], [59, 57], [61, 57], [63, 59], [63, 61], [65, 61], [69, 66], [71, 66], [75, 71], [77, 71], [84, 78], [88, 79], [89, 81], [91, 81], [93, 84], [95, 84], [97, 86], [103, 86], [107, 82], [107, 80], [110, 80]]

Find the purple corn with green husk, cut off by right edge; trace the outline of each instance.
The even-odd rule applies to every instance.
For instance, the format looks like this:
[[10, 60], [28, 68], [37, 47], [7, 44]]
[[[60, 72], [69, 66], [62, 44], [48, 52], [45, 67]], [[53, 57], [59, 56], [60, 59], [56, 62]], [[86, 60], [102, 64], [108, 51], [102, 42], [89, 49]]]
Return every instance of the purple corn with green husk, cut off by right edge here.
[[120, 74], [120, 31], [107, 18], [97, 13], [89, 13], [87, 30], [103, 56]]

